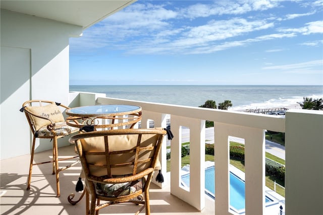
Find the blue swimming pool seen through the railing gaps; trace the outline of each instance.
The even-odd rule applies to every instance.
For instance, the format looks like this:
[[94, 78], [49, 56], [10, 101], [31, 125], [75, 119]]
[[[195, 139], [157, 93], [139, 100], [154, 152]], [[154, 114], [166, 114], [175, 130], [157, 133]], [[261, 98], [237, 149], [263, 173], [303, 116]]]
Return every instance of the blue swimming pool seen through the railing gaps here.
[[[182, 176], [182, 182], [189, 187], [190, 174]], [[214, 197], [214, 166], [205, 169], [205, 192]], [[273, 202], [272, 199], [265, 196], [265, 202]], [[245, 183], [242, 179], [230, 172], [230, 207], [236, 212], [242, 212], [245, 209]]]

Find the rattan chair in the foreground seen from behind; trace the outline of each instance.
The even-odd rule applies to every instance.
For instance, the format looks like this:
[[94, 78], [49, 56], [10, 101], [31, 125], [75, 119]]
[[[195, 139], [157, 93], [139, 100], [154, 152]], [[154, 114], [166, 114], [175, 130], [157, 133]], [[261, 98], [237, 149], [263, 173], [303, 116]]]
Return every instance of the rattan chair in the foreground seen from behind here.
[[144, 204], [136, 214], [143, 208], [150, 214], [149, 186], [165, 134], [162, 129], [120, 129], [70, 137], [85, 175], [86, 214], [121, 202]]

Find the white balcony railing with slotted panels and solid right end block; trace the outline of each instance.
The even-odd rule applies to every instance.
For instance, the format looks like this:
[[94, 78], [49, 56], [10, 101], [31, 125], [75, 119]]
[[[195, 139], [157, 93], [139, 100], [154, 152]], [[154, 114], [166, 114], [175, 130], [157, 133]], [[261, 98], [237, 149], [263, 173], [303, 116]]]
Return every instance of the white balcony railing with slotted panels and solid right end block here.
[[[286, 116], [233, 112], [71, 93], [71, 103], [133, 104], [142, 107], [141, 127], [166, 127], [171, 119], [171, 193], [198, 210], [205, 207], [205, 121], [214, 122], [215, 214], [232, 214], [229, 202], [229, 136], [245, 140], [245, 213], [265, 213], [265, 130], [285, 132], [286, 214], [323, 212], [323, 112], [290, 110]], [[181, 127], [190, 131], [190, 189], [181, 185]], [[166, 175], [166, 144], [161, 149]], [[309, 168], [310, 167], [310, 168]], [[192, 177], [193, 176], [193, 177]], [[303, 186], [307, 184], [306, 187]], [[165, 186], [160, 185], [160, 186]]]

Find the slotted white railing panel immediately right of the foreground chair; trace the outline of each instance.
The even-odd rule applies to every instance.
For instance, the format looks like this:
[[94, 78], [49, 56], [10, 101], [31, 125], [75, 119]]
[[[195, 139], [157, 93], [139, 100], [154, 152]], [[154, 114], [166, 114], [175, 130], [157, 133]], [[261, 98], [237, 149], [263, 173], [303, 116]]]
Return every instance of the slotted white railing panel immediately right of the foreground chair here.
[[[171, 193], [198, 210], [205, 207], [205, 121], [172, 116]], [[190, 128], [190, 189], [181, 183], [181, 126]]]

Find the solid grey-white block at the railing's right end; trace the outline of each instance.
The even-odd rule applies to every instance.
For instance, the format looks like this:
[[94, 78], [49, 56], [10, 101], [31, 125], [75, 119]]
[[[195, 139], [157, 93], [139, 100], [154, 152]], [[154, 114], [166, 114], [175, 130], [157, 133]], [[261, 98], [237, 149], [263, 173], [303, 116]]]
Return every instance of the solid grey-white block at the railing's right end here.
[[286, 112], [286, 214], [323, 213], [323, 111]]

